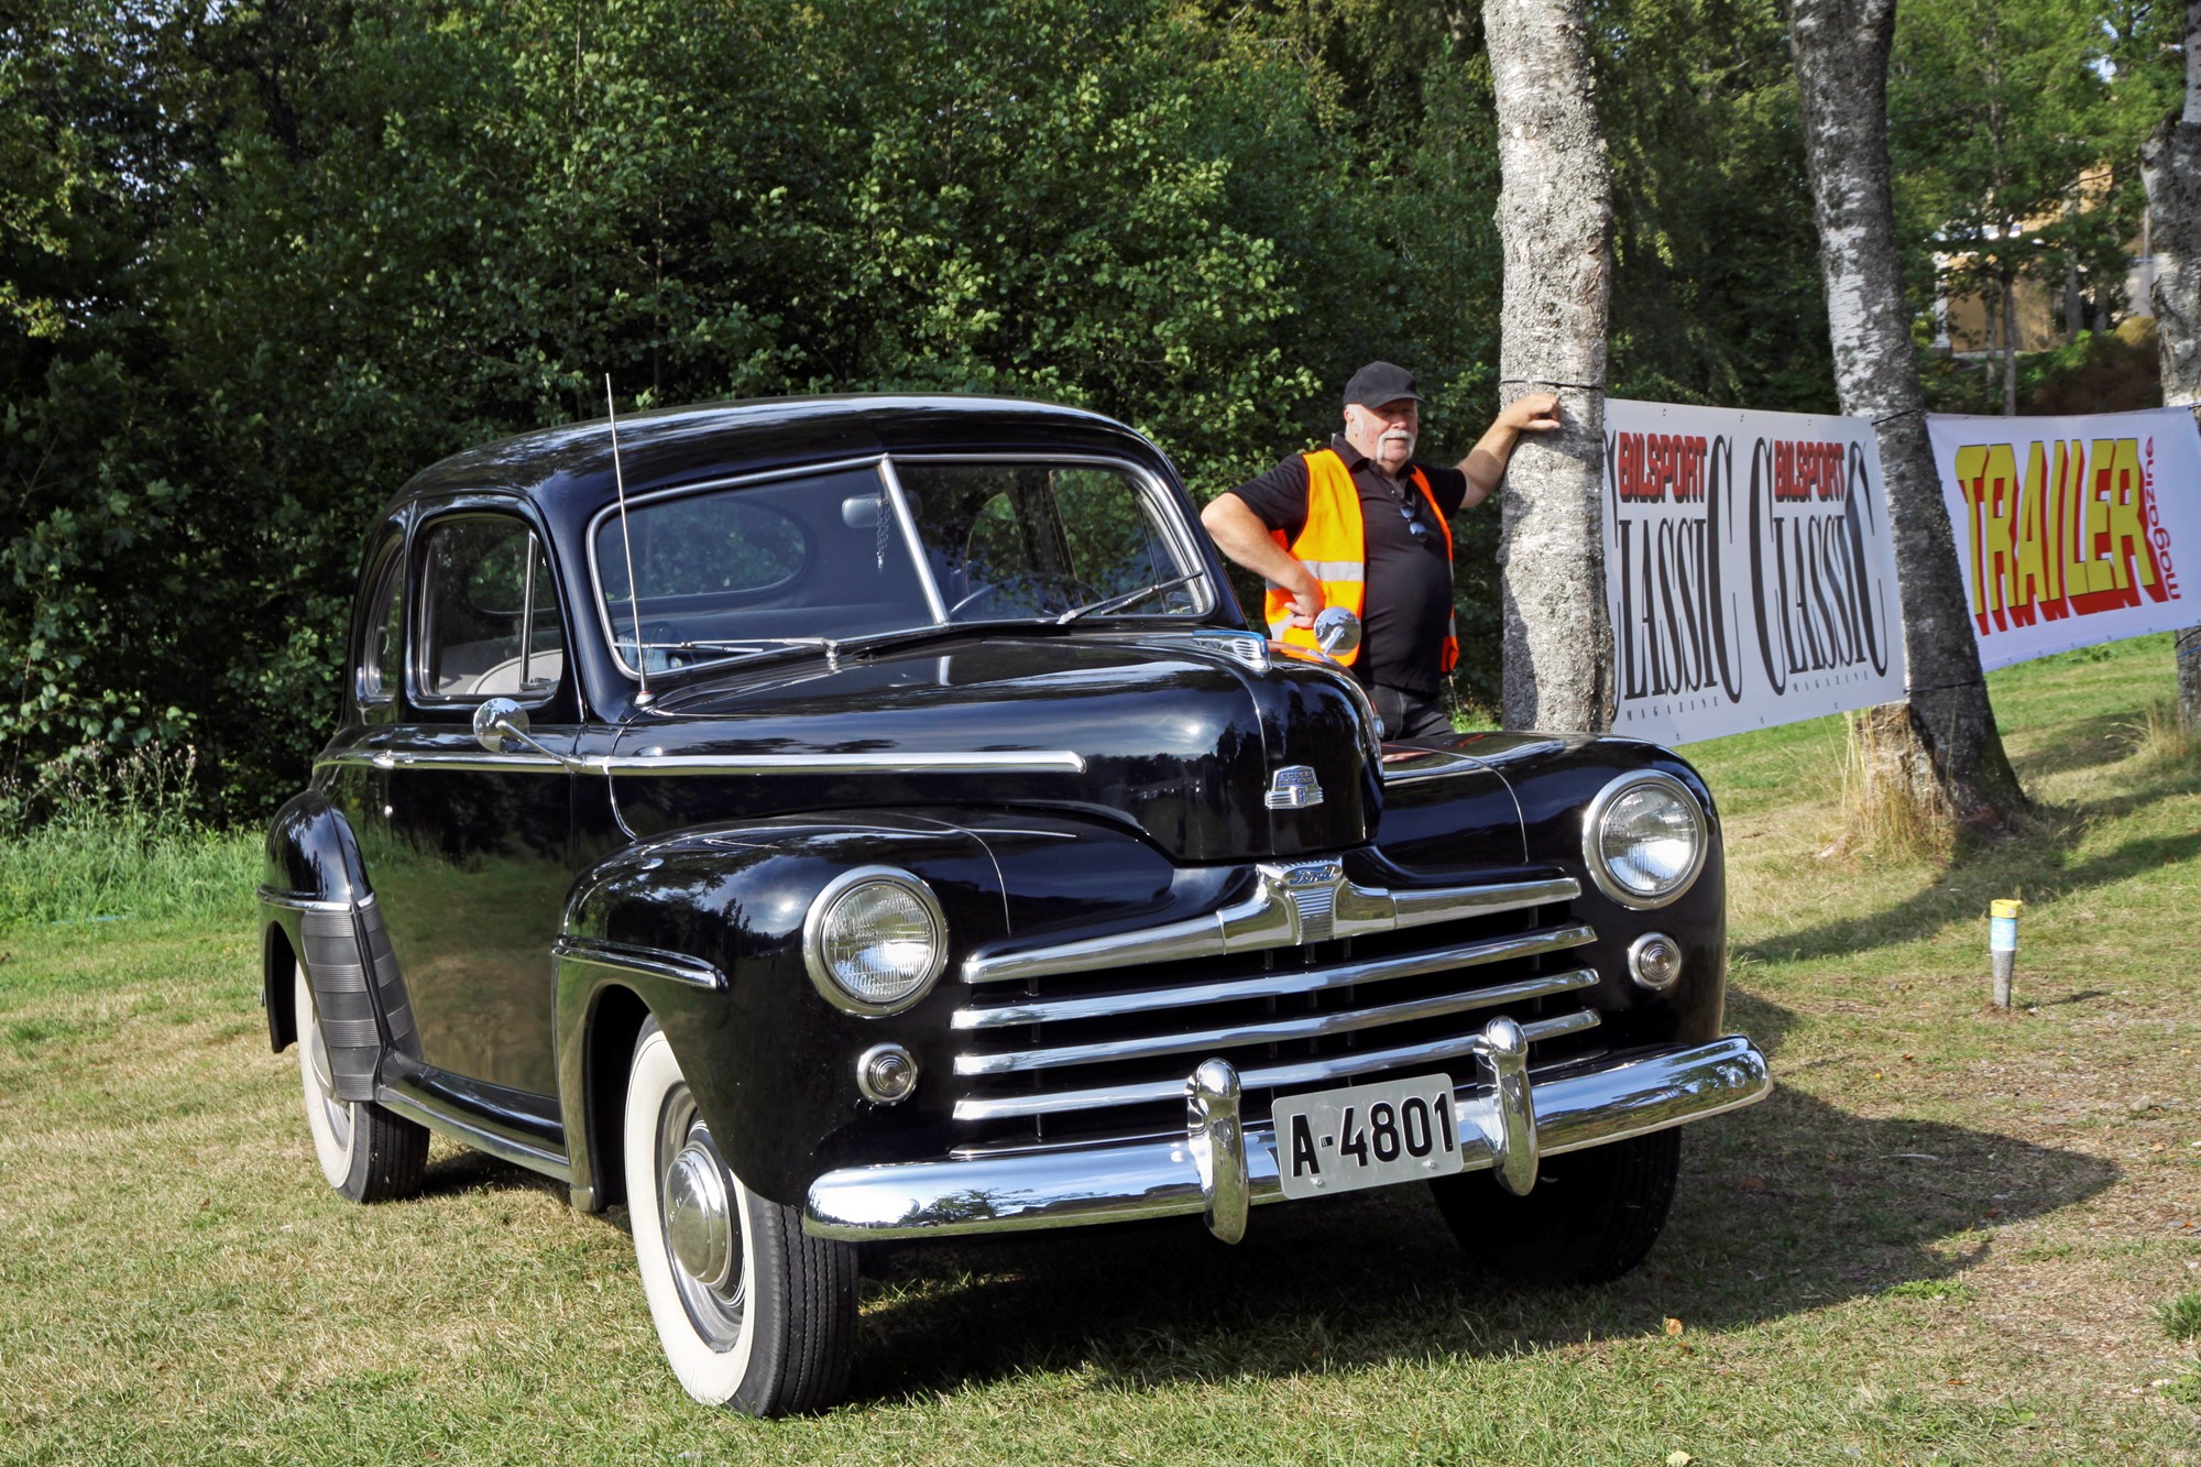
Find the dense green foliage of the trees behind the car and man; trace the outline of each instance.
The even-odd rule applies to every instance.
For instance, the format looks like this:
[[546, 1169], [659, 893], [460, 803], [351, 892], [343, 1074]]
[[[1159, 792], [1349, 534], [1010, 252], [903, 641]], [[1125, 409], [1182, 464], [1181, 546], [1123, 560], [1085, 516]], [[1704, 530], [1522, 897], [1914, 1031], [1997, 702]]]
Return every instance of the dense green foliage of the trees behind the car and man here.
[[[1915, 79], [1954, 88], [1904, 93], [1941, 108], [1915, 238], [1976, 154], [1965, 4], [1906, 4], [1946, 33]], [[2080, 26], [2036, 152], [2131, 150], [2177, 93], [2175, 9]], [[2069, 48], [2051, 11], [1996, 11], [2012, 75]], [[1589, 13], [1616, 392], [1831, 408], [1778, 2]], [[1497, 399], [1497, 192], [1475, 7], [13, 0], [0, 780], [189, 740], [196, 813], [264, 813], [326, 736], [374, 511], [442, 454], [599, 416], [605, 374], [636, 405], [1081, 403], [1206, 498], [1325, 438], [1387, 357], [1448, 460]], [[1497, 526], [1455, 526], [1483, 705]]]

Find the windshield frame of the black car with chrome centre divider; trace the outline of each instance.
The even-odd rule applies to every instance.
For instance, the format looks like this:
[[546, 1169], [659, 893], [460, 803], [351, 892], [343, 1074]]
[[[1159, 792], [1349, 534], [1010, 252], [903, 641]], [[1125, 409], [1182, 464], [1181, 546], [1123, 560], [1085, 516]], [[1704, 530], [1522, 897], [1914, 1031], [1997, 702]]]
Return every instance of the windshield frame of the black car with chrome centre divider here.
[[[1142, 507], [1147, 507], [1149, 520], [1151, 520], [1153, 529], [1167, 542], [1167, 551], [1169, 551], [1169, 555], [1178, 564], [1178, 573], [1171, 575], [1171, 577], [1160, 577], [1158, 588], [1184, 588], [1184, 590], [1191, 593], [1193, 606], [1191, 608], [1178, 608], [1178, 610], [1162, 610], [1162, 612], [1125, 612], [1125, 610], [1085, 612], [1083, 608], [1072, 608], [1074, 615], [1070, 615], [1070, 617], [1065, 617], [1061, 610], [1052, 610], [1052, 612], [1019, 612], [1019, 615], [955, 617], [953, 610], [949, 608], [944, 595], [942, 595], [940, 577], [935, 575], [935, 568], [933, 568], [933, 564], [927, 557], [924, 533], [922, 533], [922, 526], [918, 524], [916, 513], [911, 509], [909, 493], [902, 489], [900, 474], [896, 474], [896, 465], [924, 465], [924, 467], [935, 467], [935, 465], [938, 467], [944, 467], [944, 465], [979, 465], [979, 467], [984, 467], [984, 465], [993, 465], [993, 467], [1004, 467], [1004, 465], [1015, 465], [1015, 467], [1092, 467], [1092, 469], [1107, 469], [1107, 471], [1123, 474], [1129, 480], [1129, 485], [1134, 487], [1134, 491], [1140, 496], [1140, 502], [1142, 502]], [[614, 604], [616, 606], [625, 606], [627, 597], [618, 597], [614, 601], [605, 593], [603, 562], [601, 562], [601, 555], [599, 555], [599, 537], [603, 535], [607, 520], [618, 518], [623, 511], [627, 515], [632, 515], [632, 513], [636, 513], [638, 509], [643, 509], [647, 504], [660, 504], [660, 502], [667, 502], [667, 500], [696, 498], [696, 496], [704, 496], [704, 493], [722, 493], [722, 491], [737, 491], [737, 489], [753, 489], [753, 487], [773, 485], [773, 482], [786, 482], [786, 480], [797, 480], [797, 478], [825, 478], [825, 476], [832, 476], [832, 474], [847, 474], [847, 471], [856, 471], [856, 469], [869, 469], [872, 474], [878, 476], [880, 489], [883, 489], [883, 493], [887, 498], [887, 504], [889, 504], [889, 513], [894, 515], [896, 540], [900, 542], [902, 555], [907, 555], [907, 559], [909, 559], [909, 564], [911, 564], [911, 568], [913, 568], [913, 573], [918, 577], [918, 584], [920, 584], [922, 595], [924, 595], [924, 608], [922, 610], [929, 612], [929, 619], [909, 621], [907, 626], [896, 626], [896, 628], [874, 628], [874, 630], [865, 630], [865, 632], [852, 632], [847, 637], [803, 634], [803, 637], [726, 639], [729, 645], [735, 643], [735, 641], [740, 641], [742, 650], [726, 650], [722, 656], [704, 656], [704, 659], [698, 659], [693, 663], [682, 663], [678, 667], [651, 667], [647, 672], [647, 681], [651, 681], [651, 683], [654, 681], [665, 681], [665, 678], [682, 678], [685, 681], [687, 676], [691, 676], [696, 672], [702, 672], [702, 670], [729, 667], [729, 665], [735, 665], [735, 663], [746, 663], [746, 661], [753, 661], [753, 659], [759, 659], [759, 656], [770, 656], [770, 654], [790, 652], [790, 650], [806, 650], [806, 652], [812, 652], [817, 656], [832, 659], [832, 656], [836, 656], [836, 654], [841, 654], [845, 650], [863, 648], [863, 645], [869, 645], [874, 641], [894, 641], [894, 639], [905, 639], [905, 637], [924, 634], [924, 632], [957, 632], [957, 630], [964, 630], [964, 628], [986, 628], [986, 626], [1076, 626], [1076, 623], [1092, 626], [1092, 623], [1116, 621], [1116, 619], [1164, 619], [1164, 617], [1171, 619], [1171, 621], [1197, 623], [1197, 621], [1206, 619], [1208, 615], [1213, 615], [1215, 608], [1217, 608], [1217, 604], [1219, 604], [1213, 568], [1208, 566], [1208, 559], [1200, 553], [1200, 542], [1191, 533], [1191, 524], [1189, 524], [1186, 515], [1182, 513], [1182, 507], [1178, 504], [1175, 493], [1171, 493], [1171, 485], [1156, 469], [1151, 469], [1145, 463], [1138, 463], [1136, 458], [1120, 458], [1120, 456], [1114, 456], [1114, 454], [1092, 454], [1092, 452], [865, 454], [861, 458], [834, 458], [834, 460], [806, 463], [806, 465], [786, 465], [786, 467], [775, 467], [775, 469], [759, 469], [755, 474], [733, 474], [733, 476], [724, 476], [724, 478], [698, 480], [693, 485], [674, 485], [674, 487], [665, 487], [665, 489], [651, 489], [647, 493], [627, 496], [625, 507], [621, 507], [618, 500], [612, 500], [610, 504], [603, 504], [601, 509], [596, 509], [588, 518], [588, 526], [583, 531], [583, 553], [588, 557], [590, 601], [594, 604], [594, 612], [596, 612], [594, 615], [596, 632], [603, 637], [603, 645], [610, 652], [612, 665], [618, 670], [618, 674], [625, 676], [625, 678], [629, 678], [629, 681], [634, 681], [634, 683], [643, 683], [645, 681], [643, 672], [636, 670], [627, 661], [627, 656], [625, 656], [627, 645], [621, 639], [618, 628], [616, 628], [616, 623], [612, 619]], [[640, 595], [640, 615], [636, 617], [636, 639], [634, 639], [636, 643], [640, 643], [640, 623], [649, 617], [649, 590], [647, 590], [647, 586], [643, 586], [640, 590], [643, 590], [643, 595]], [[656, 643], [645, 643], [645, 645], [654, 648]], [[638, 650], [645, 650], [645, 645], [638, 645]], [[704, 652], [715, 650], [713, 643], [709, 643], [709, 641], [678, 643], [678, 645], [682, 645], [687, 650], [704, 650]]]

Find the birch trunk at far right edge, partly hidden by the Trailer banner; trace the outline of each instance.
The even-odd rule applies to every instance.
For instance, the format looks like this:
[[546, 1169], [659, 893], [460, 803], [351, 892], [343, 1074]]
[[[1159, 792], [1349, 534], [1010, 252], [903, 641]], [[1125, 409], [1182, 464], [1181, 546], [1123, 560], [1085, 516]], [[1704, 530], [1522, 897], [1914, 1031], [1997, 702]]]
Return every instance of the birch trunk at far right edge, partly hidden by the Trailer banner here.
[[[2186, 0], [2186, 108], [2139, 148], [2139, 176], [2155, 216], [2155, 341], [2164, 405], [2201, 421], [2201, 0]], [[2201, 729], [2201, 628], [2177, 634], [2179, 718]]]

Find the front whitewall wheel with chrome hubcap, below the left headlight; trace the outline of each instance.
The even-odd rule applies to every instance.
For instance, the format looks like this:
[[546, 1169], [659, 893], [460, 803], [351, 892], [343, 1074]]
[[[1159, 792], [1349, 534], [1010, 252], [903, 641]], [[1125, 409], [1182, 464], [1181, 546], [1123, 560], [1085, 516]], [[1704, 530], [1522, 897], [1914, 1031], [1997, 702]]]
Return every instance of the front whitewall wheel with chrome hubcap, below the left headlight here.
[[625, 1110], [634, 1260], [665, 1359], [691, 1397], [753, 1416], [823, 1410], [856, 1352], [856, 1249], [742, 1185], [656, 1020]]

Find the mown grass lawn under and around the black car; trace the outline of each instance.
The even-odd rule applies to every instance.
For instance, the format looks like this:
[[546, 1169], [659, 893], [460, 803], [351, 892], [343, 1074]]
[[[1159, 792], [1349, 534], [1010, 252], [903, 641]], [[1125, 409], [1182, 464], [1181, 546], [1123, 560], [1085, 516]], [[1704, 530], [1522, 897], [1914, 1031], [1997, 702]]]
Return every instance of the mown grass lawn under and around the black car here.
[[414, 1203], [321, 1185], [255, 837], [167, 916], [48, 896], [0, 932], [0, 1460], [2201, 1465], [2201, 758], [2168, 639], [1992, 683], [2043, 817], [1954, 866], [1822, 855], [1838, 720], [1690, 751], [1781, 1088], [1688, 1132], [1635, 1275], [1481, 1291], [1417, 1189], [909, 1249], [854, 1403], [775, 1425], [680, 1394], [618, 1214], [445, 1143]]

